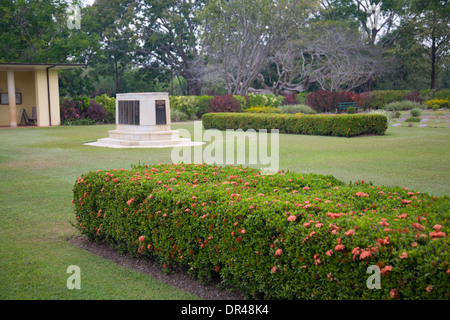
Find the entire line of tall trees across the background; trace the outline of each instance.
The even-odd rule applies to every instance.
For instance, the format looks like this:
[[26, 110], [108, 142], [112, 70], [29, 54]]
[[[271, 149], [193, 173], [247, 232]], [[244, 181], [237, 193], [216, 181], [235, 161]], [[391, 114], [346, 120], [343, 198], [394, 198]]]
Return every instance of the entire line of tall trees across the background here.
[[0, 62], [86, 63], [68, 96], [439, 89], [449, 22], [448, 0], [0, 0]]

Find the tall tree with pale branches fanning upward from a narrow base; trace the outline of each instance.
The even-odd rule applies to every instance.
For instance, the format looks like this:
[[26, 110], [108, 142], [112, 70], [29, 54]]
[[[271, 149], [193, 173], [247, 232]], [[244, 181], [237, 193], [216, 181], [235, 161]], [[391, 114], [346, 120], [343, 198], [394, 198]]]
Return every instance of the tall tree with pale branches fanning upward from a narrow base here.
[[245, 94], [262, 67], [306, 25], [309, 0], [211, 0], [204, 21], [204, 49], [228, 93]]

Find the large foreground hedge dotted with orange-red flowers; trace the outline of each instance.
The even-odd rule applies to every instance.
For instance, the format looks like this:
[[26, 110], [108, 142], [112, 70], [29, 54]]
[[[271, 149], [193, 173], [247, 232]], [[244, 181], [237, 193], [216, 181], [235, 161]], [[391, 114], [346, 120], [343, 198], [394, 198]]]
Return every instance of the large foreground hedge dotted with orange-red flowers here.
[[[91, 240], [264, 299], [450, 298], [450, 202], [241, 166], [138, 166], [74, 185]], [[380, 289], [369, 289], [369, 266]]]

